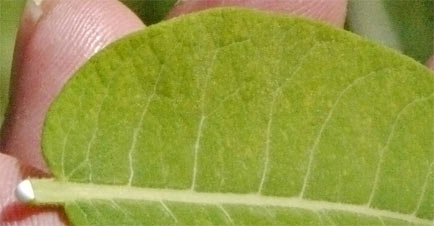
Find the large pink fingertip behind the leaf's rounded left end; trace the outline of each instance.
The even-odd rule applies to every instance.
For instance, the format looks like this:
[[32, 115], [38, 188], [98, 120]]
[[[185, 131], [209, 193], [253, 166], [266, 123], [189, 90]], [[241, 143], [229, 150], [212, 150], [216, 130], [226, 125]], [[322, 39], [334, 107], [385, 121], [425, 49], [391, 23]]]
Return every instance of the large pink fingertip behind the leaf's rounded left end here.
[[0, 150], [47, 171], [40, 139], [50, 103], [90, 56], [143, 27], [117, 0], [28, 0], [16, 44]]

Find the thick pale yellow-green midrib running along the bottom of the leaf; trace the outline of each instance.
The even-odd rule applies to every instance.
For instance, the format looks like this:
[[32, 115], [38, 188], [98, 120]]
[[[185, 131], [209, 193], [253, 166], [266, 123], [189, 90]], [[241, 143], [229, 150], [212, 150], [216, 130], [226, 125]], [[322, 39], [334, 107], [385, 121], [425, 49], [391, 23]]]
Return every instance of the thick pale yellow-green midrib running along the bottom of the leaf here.
[[157, 202], [164, 200], [192, 204], [276, 206], [301, 208], [311, 211], [334, 210], [380, 218], [393, 218], [416, 224], [432, 225], [434, 223], [431, 220], [418, 218], [415, 215], [375, 209], [367, 205], [314, 201], [298, 197], [286, 198], [259, 194], [206, 193], [193, 190], [141, 188], [127, 185], [59, 182], [52, 179], [33, 179], [31, 183], [35, 193], [35, 200], [33, 201], [35, 204], [63, 204], [85, 200], [143, 200]]

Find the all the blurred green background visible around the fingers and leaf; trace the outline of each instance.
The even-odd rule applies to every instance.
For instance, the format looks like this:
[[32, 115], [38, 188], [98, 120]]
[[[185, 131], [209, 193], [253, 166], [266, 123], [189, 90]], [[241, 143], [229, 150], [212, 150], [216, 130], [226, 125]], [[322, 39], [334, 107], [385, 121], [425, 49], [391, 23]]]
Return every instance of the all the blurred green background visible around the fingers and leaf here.
[[[64, 0], [74, 1], [74, 0]], [[176, 0], [122, 0], [147, 24]], [[15, 36], [25, 0], [0, 0], [0, 124], [8, 100]], [[346, 29], [425, 62], [434, 53], [434, 0], [350, 0]]]

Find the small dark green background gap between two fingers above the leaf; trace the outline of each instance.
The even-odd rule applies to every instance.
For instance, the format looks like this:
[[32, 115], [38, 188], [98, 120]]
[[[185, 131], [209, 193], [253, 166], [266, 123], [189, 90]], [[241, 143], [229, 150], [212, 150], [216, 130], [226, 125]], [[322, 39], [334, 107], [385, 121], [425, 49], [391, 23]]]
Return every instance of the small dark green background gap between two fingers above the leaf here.
[[177, 0], [121, 0], [147, 25], [160, 22]]

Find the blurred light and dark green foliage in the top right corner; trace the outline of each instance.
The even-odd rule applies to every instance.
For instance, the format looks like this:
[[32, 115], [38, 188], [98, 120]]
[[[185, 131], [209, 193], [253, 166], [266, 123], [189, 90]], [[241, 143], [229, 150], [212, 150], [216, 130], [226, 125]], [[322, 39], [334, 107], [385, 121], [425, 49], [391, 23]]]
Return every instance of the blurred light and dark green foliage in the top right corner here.
[[349, 1], [348, 28], [424, 63], [434, 53], [434, 1]]

